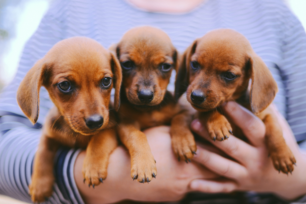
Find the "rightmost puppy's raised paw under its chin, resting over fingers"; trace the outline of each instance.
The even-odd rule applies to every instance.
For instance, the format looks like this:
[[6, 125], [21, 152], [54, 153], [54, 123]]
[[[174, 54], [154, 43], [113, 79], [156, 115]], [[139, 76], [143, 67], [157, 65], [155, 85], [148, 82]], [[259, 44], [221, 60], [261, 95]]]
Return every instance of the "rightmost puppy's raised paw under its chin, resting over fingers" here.
[[232, 134], [232, 127], [226, 117], [220, 115], [218, 119], [208, 120], [206, 123], [208, 133], [212, 140], [224, 141]]

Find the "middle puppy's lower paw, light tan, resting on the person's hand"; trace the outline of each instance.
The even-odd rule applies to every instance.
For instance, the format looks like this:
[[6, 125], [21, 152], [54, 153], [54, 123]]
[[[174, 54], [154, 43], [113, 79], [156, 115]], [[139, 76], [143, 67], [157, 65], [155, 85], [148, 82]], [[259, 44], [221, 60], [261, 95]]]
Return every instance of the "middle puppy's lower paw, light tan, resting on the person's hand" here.
[[151, 153], [131, 158], [131, 176], [140, 183], [149, 183], [157, 175], [155, 160]]

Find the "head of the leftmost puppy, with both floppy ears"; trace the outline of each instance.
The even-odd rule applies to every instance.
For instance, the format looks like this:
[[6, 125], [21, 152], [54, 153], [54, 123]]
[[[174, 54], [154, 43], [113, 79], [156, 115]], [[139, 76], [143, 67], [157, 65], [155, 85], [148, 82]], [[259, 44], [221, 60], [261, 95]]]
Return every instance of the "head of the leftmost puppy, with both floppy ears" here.
[[93, 39], [73, 37], [58, 42], [37, 61], [22, 80], [17, 101], [35, 123], [39, 89], [44, 86], [70, 127], [90, 135], [108, 123], [113, 86], [118, 108], [121, 81], [121, 67], [114, 54]]

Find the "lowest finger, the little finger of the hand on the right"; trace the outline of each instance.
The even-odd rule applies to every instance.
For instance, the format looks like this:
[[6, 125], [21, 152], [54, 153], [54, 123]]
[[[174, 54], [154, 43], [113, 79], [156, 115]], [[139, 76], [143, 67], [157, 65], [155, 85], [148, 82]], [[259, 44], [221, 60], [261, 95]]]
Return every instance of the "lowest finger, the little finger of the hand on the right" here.
[[190, 189], [204, 193], [228, 193], [236, 190], [238, 185], [233, 181], [200, 180], [191, 181]]

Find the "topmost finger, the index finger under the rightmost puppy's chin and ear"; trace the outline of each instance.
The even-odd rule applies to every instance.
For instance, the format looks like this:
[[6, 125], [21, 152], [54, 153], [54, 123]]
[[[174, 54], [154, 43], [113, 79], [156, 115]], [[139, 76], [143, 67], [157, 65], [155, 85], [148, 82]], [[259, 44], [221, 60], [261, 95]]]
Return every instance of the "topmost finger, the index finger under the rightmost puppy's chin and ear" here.
[[263, 121], [234, 101], [223, 104], [222, 110], [234, 124], [241, 128], [252, 145], [256, 147], [262, 147], [264, 145], [266, 128]]

